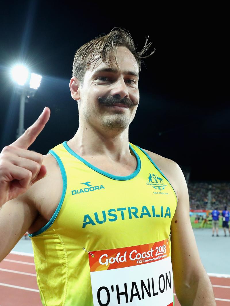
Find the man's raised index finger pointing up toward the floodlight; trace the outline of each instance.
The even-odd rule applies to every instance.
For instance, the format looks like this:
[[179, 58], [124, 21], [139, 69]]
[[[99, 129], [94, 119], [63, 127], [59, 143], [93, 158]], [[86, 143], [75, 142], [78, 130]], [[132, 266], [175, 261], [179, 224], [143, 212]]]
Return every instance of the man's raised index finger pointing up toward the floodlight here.
[[40, 132], [44, 129], [49, 117], [50, 109], [45, 107], [38, 119], [24, 132], [24, 134], [15, 140], [11, 146], [27, 150], [36, 140]]

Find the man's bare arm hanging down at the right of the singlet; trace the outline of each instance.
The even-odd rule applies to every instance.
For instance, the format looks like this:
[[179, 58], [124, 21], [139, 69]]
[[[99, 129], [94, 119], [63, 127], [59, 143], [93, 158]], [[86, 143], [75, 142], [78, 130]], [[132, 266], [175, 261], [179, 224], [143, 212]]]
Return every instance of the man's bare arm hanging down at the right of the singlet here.
[[178, 204], [171, 222], [174, 286], [182, 306], [216, 306], [209, 277], [201, 263], [189, 217], [189, 195], [180, 167], [172, 162]]

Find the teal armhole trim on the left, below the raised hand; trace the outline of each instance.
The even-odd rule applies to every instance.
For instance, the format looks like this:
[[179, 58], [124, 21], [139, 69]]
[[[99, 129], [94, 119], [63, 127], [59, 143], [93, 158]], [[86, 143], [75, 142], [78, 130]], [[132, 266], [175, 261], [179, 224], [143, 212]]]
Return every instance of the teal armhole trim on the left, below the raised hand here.
[[58, 213], [61, 209], [64, 197], [65, 197], [65, 194], [66, 194], [67, 177], [66, 177], [66, 171], [65, 171], [65, 168], [63, 166], [63, 163], [62, 163], [61, 159], [59, 158], [59, 156], [53, 150], [50, 150], [48, 153], [50, 153], [51, 155], [54, 156], [54, 158], [57, 160], [58, 165], [59, 165], [60, 170], [61, 170], [62, 181], [63, 181], [62, 196], [61, 196], [61, 200], [58, 204], [58, 207], [56, 208], [56, 211], [52, 215], [52, 218], [49, 220], [49, 222], [45, 226], [43, 226], [40, 230], [36, 231], [35, 233], [28, 234], [29, 237], [34, 237], [34, 236], [37, 236], [37, 235], [43, 233], [45, 230], [47, 230], [53, 224], [54, 220], [56, 219], [56, 217], [57, 217], [57, 215], [58, 215]]

